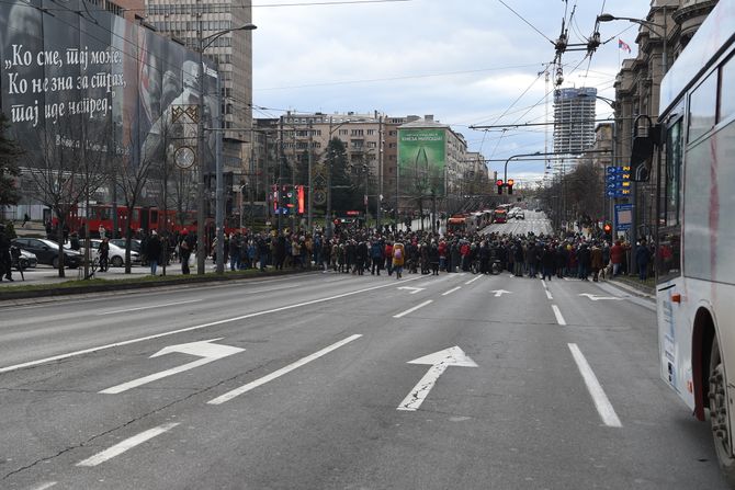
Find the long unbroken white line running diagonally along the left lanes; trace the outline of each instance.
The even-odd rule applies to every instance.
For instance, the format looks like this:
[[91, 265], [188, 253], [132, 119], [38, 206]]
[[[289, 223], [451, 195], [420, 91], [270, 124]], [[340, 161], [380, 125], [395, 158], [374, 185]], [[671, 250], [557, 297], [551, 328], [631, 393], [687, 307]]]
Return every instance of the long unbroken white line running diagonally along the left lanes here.
[[[421, 277], [406, 278], [406, 280], [403, 280], [403, 281], [404, 282], [409, 282], [409, 281], [417, 281], [419, 278], [421, 278]], [[331, 301], [332, 299], [344, 298], [347, 296], [354, 296], [354, 295], [359, 295], [359, 294], [362, 294], [362, 293], [366, 293], [369, 290], [383, 289], [385, 287], [395, 287], [395, 283], [391, 282], [388, 284], [382, 284], [380, 286], [366, 287], [364, 289], [353, 290], [353, 292], [350, 292], [350, 293], [342, 293], [340, 295], [330, 296], [330, 297], [327, 297], [327, 298], [314, 299], [312, 301], [296, 303], [294, 305], [282, 306], [280, 308], [267, 309], [267, 310], [263, 310], [263, 311], [256, 311], [255, 314], [242, 315], [242, 316], [234, 317], [234, 318], [225, 318], [224, 320], [212, 321], [210, 323], [195, 324], [193, 327], [186, 327], [186, 328], [183, 328], [183, 329], [171, 330], [169, 332], [156, 333], [154, 335], [140, 337], [138, 339], [131, 339], [131, 340], [125, 340], [125, 341], [122, 341], [122, 342], [115, 342], [115, 343], [112, 343], [112, 344], [100, 345], [100, 346], [97, 346], [97, 347], [83, 349], [81, 351], [69, 352], [67, 354], [54, 355], [52, 357], [46, 357], [46, 358], [42, 358], [42, 360], [37, 360], [37, 361], [29, 361], [27, 363], [21, 363], [21, 364], [15, 364], [13, 366], [0, 367], [0, 374], [8, 373], [8, 372], [11, 372], [11, 371], [22, 369], [24, 367], [37, 366], [37, 365], [50, 363], [50, 362], [54, 362], [54, 361], [61, 361], [61, 360], [69, 358], [69, 357], [76, 357], [76, 356], [79, 356], [79, 355], [90, 354], [92, 352], [99, 352], [99, 351], [104, 351], [104, 350], [108, 350], [108, 349], [115, 349], [115, 347], [120, 347], [120, 346], [123, 346], [123, 345], [129, 345], [129, 344], [134, 344], [134, 343], [138, 343], [138, 342], [145, 342], [147, 340], [160, 339], [160, 338], [169, 337], [169, 335], [176, 335], [177, 333], [191, 332], [193, 330], [206, 329], [206, 328], [210, 328], [210, 327], [216, 327], [218, 324], [229, 323], [229, 322], [233, 322], [233, 321], [246, 320], [248, 318], [261, 317], [263, 315], [276, 314], [276, 312], [280, 312], [280, 311], [285, 311], [285, 310], [290, 310], [290, 309], [294, 309], [294, 308], [301, 308], [303, 306], [317, 305], [319, 303]]]

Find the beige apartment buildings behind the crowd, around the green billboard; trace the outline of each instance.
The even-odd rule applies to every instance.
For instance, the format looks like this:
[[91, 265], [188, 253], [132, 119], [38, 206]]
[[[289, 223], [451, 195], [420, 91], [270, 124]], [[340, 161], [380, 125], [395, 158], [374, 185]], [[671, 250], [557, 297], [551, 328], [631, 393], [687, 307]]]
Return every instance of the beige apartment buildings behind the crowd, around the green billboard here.
[[[257, 193], [257, 197], [268, 200], [264, 190], [278, 183], [307, 185], [310, 159], [314, 205], [324, 206], [327, 194], [326, 149], [329, 140], [337, 138], [347, 150], [351, 179], [363, 183], [371, 215], [377, 213], [380, 197], [385, 213], [393, 214], [396, 209], [399, 214], [412, 213], [423, 203], [417, 200], [416, 172], [411, 174], [399, 164], [399, 135], [417, 129], [432, 132], [443, 141], [441, 178], [432, 180], [437, 184], [433, 191], [442, 210], [456, 207], [462, 194], [488, 192], [487, 168], [482, 156], [468, 153], [464, 137], [434, 121], [431, 115], [287, 112], [278, 119], [253, 121], [250, 174], [255, 175], [258, 189], [263, 190], [262, 194]], [[426, 196], [430, 195], [429, 190]]]

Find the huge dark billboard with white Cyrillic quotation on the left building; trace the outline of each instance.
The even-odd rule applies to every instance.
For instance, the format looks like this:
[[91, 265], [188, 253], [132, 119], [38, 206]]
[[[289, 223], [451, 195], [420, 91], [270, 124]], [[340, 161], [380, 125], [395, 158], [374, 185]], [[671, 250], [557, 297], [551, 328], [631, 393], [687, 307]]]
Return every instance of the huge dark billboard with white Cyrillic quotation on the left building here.
[[[0, 110], [26, 168], [70, 151], [137, 164], [195, 148], [202, 91], [204, 127], [219, 117], [217, 73], [205, 60], [202, 77], [199, 59], [94, 2], [0, 2]], [[214, 171], [216, 132], [205, 135]]]

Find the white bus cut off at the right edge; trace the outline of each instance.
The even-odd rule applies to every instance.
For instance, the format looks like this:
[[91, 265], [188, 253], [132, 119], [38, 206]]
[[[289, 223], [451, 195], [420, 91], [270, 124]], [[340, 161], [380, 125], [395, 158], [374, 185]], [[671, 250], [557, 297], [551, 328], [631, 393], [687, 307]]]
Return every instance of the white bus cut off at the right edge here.
[[657, 305], [662, 376], [704, 421], [735, 485], [735, 0], [662, 82]]

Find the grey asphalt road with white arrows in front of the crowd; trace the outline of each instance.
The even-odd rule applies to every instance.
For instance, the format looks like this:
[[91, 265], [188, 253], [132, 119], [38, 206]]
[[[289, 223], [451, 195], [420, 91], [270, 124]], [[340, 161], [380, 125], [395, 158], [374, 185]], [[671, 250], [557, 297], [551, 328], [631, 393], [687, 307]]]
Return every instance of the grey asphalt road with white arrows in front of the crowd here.
[[726, 488], [653, 303], [609, 284], [313, 273], [0, 318], [3, 489]]

